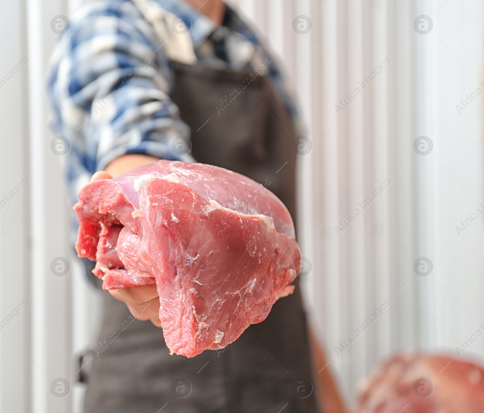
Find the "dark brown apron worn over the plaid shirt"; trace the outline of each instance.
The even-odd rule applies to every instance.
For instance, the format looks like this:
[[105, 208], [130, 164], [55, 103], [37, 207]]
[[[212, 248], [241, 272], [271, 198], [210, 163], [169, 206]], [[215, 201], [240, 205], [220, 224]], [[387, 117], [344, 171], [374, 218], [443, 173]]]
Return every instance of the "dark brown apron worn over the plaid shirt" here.
[[[172, 98], [191, 127], [194, 158], [266, 184], [294, 217], [294, 126], [270, 80], [201, 64], [173, 63], [173, 70]], [[316, 412], [306, 316], [298, 279], [294, 284], [265, 321], [225, 349], [190, 359], [170, 356], [162, 330], [128, 322], [126, 306], [106, 292], [104, 345], [92, 359], [85, 412]]]

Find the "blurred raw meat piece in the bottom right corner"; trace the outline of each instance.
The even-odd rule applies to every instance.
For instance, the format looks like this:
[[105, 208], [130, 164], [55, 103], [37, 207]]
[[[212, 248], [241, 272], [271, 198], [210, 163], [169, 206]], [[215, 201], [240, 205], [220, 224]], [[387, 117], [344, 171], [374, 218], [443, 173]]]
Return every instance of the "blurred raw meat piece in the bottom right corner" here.
[[484, 370], [446, 356], [397, 355], [364, 380], [356, 413], [482, 413]]

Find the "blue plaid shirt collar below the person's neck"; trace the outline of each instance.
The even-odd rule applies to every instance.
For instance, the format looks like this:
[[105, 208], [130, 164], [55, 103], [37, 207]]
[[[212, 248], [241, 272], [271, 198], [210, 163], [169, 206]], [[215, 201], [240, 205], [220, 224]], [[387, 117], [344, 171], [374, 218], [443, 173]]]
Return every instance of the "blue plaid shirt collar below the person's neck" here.
[[167, 11], [181, 15], [181, 18], [187, 25], [191, 26], [190, 34], [194, 46], [197, 47], [214, 31], [217, 26], [206, 15], [203, 15], [190, 4], [183, 0], [157, 0]]

